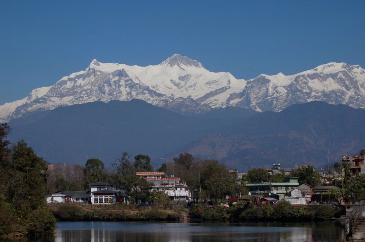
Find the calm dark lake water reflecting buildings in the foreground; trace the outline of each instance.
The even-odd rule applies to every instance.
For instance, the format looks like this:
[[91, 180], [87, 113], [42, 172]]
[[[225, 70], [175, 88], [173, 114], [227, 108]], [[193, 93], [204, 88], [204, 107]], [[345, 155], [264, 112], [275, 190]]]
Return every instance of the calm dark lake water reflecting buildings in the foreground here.
[[335, 222], [157, 223], [58, 222], [53, 236], [36, 241], [344, 241]]

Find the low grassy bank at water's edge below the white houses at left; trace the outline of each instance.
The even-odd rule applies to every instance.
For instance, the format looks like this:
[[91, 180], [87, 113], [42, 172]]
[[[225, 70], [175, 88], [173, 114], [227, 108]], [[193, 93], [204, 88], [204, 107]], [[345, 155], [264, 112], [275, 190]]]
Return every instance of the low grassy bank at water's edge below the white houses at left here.
[[181, 214], [178, 211], [156, 208], [87, 208], [78, 205], [60, 205], [52, 207], [51, 212], [59, 221], [176, 221]]

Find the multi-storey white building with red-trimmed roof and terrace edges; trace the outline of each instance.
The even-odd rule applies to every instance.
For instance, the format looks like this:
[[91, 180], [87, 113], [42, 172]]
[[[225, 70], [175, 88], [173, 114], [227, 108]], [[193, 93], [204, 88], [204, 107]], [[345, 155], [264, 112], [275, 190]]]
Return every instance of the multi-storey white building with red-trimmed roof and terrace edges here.
[[147, 180], [151, 190], [164, 191], [171, 200], [191, 200], [191, 192], [186, 182], [180, 181], [178, 177], [173, 175], [166, 177], [164, 172], [137, 172], [136, 175]]

